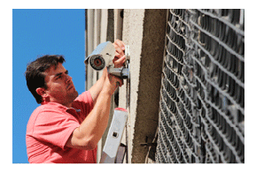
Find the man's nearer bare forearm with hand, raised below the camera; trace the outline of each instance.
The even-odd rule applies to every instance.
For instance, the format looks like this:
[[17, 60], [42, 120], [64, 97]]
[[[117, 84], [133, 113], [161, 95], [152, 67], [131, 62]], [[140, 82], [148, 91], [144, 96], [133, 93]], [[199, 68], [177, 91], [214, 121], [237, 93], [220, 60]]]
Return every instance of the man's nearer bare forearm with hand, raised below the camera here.
[[117, 77], [112, 75], [105, 77], [104, 86], [97, 97], [94, 108], [68, 138], [66, 146], [87, 150], [97, 146], [108, 123], [111, 96], [118, 87], [117, 82], [122, 84], [122, 80]]

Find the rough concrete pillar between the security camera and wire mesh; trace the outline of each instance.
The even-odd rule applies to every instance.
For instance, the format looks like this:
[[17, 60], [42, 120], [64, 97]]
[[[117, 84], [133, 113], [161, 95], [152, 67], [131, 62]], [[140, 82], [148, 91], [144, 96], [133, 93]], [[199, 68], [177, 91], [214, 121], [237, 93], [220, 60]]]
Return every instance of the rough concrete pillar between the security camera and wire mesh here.
[[[128, 108], [128, 162], [144, 163], [159, 119], [159, 90], [167, 10], [124, 10], [122, 40], [130, 46], [130, 84], [120, 88], [120, 107]], [[127, 95], [128, 91], [128, 95]], [[127, 97], [129, 103], [127, 107]]]

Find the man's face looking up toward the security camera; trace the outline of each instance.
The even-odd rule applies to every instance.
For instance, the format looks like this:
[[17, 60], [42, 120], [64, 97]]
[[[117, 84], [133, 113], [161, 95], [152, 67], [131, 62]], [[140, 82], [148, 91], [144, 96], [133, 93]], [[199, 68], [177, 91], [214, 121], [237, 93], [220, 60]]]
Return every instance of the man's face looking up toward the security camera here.
[[67, 75], [66, 69], [62, 64], [58, 63], [57, 68], [51, 66], [45, 71], [44, 81], [47, 85], [45, 93], [47, 93], [50, 102], [58, 102], [68, 108], [78, 96], [75, 90], [72, 78]]

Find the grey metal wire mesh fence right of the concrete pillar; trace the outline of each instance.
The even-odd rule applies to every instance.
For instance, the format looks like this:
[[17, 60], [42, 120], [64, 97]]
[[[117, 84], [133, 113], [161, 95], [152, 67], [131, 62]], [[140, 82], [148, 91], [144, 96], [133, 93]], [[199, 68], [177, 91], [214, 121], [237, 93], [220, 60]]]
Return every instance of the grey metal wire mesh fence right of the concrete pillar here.
[[244, 10], [169, 10], [156, 161], [244, 163]]

